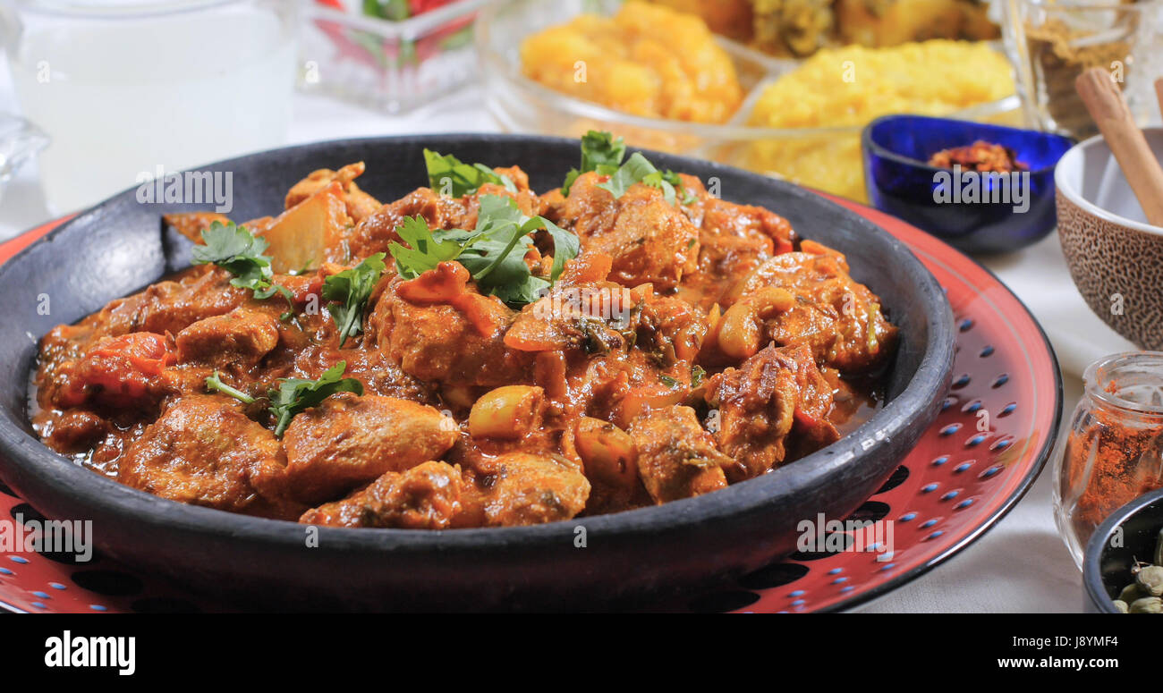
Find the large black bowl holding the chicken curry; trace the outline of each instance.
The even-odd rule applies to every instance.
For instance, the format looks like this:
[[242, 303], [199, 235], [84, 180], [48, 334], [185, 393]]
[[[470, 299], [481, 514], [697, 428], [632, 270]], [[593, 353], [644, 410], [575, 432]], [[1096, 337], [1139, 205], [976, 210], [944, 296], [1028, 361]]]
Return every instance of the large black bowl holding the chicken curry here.
[[[462, 160], [520, 164], [535, 190], [577, 165], [572, 140], [430, 135], [322, 142], [222, 162], [233, 219], [277, 212], [306, 173], [365, 160], [361, 187], [394, 200], [427, 184], [422, 149]], [[37, 338], [110, 299], [181, 269], [190, 243], [163, 231], [164, 212], [127, 191], [80, 214], [0, 267], [0, 476], [42, 513], [93, 521], [94, 543], [143, 570], [244, 608], [505, 609], [641, 605], [737, 576], [794, 550], [795, 526], [843, 520], [897, 467], [934, 420], [948, 386], [954, 329], [932, 274], [880, 228], [815, 194], [762, 176], [649, 153], [659, 167], [716, 177], [726, 199], [764, 205], [802, 235], [848, 253], [852, 276], [900, 327], [887, 406], [858, 430], [761, 479], [701, 498], [537, 527], [420, 531], [308, 528], [155, 498], [78, 469], [33, 434], [26, 388]], [[51, 297], [51, 315], [37, 297]], [[576, 543], [585, 530], [585, 546]]]

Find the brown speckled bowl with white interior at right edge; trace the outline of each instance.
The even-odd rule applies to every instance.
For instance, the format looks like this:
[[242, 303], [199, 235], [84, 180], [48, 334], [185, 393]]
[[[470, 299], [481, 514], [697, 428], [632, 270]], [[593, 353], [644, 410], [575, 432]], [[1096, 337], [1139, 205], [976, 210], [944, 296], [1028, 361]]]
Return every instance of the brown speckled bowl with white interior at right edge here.
[[[1163, 160], [1163, 128], [1146, 130]], [[1143, 349], [1163, 350], [1163, 228], [1147, 223], [1101, 136], [1058, 162], [1058, 237], [1086, 305]]]

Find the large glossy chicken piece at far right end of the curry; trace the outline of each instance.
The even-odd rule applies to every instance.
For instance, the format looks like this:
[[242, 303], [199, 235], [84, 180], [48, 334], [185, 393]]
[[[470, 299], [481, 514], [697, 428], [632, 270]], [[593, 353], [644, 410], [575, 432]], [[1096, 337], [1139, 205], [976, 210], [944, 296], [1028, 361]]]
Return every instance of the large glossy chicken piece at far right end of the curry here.
[[807, 344], [816, 362], [846, 372], [870, 371], [893, 352], [897, 328], [880, 312], [879, 299], [848, 274], [844, 256], [805, 241], [805, 250], [786, 252], [755, 269], [736, 287], [748, 294], [778, 287], [795, 305], [763, 321], [764, 341]]

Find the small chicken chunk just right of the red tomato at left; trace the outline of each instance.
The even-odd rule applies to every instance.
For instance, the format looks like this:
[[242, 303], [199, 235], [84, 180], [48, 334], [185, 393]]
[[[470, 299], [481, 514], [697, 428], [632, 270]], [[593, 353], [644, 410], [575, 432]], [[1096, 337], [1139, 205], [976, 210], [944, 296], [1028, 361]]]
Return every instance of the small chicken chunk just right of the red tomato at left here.
[[178, 333], [178, 359], [214, 367], [254, 365], [279, 343], [279, 322], [270, 313], [235, 308]]

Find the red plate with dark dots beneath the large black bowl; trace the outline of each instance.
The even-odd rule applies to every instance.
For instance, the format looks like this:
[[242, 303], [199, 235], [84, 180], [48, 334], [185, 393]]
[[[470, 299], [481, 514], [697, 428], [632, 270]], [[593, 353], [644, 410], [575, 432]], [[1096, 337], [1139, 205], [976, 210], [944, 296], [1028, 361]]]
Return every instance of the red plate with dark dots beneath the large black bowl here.
[[[880, 596], [982, 536], [1021, 499], [1054, 446], [1062, 380], [1054, 351], [1021, 301], [987, 270], [928, 234], [833, 199], [907, 243], [944, 287], [958, 335], [941, 414], [850, 517], [871, 521], [879, 531], [858, 537], [842, 528], [826, 531], [823, 545], [669, 603], [668, 610], [840, 610]], [[0, 245], [0, 262], [57, 223]], [[17, 516], [41, 519], [0, 484], [0, 519]], [[100, 555], [78, 563], [71, 555], [23, 551], [0, 551], [0, 605], [21, 612], [224, 610]]]

